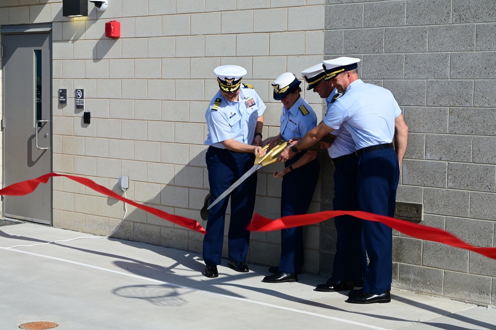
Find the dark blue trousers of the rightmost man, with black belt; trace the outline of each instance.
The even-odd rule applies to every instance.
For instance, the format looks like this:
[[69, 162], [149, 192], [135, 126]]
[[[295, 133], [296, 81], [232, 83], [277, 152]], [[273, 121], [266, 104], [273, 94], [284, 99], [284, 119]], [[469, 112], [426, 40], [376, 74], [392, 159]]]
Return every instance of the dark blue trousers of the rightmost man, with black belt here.
[[[359, 155], [357, 187], [360, 210], [394, 216], [399, 177], [398, 157], [393, 148], [379, 149]], [[369, 258], [363, 291], [380, 294], [391, 289], [392, 230], [380, 222], [367, 220], [362, 220], [362, 229]]]

